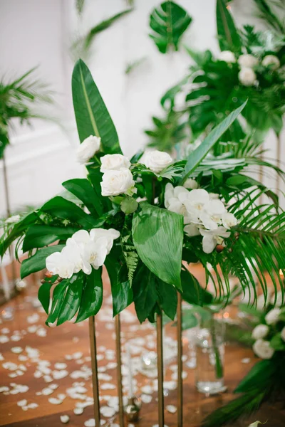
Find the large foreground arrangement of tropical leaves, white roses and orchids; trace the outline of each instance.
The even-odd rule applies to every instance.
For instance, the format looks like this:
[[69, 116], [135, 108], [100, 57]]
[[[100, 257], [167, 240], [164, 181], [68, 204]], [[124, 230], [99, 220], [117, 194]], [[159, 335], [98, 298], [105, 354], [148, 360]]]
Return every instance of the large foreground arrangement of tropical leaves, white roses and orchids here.
[[[82, 60], [73, 70], [72, 89], [81, 140], [78, 161], [86, 164], [87, 178], [64, 182], [68, 196], [53, 197], [16, 223], [6, 222], [0, 240], [2, 256], [14, 241], [16, 256], [20, 248], [28, 254], [21, 263], [22, 278], [47, 270], [38, 297], [48, 325], [96, 315], [103, 300], [103, 265], [113, 315], [135, 302], [140, 322], [153, 322], [160, 312], [173, 319], [177, 292], [202, 304], [204, 284], [187, 269], [190, 262], [202, 263], [206, 285], [214, 271], [217, 295], [229, 295], [230, 273], [247, 288], [250, 265], [264, 295], [264, 267], [283, 292], [277, 273], [284, 268], [284, 212], [278, 198], [241, 173], [247, 162], [227, 159], [221, 168], [206, 159], [245, 105], [185, 161], [158, 151], [128, 159]], [[272, 203], [259, 206], [264, 192]]]

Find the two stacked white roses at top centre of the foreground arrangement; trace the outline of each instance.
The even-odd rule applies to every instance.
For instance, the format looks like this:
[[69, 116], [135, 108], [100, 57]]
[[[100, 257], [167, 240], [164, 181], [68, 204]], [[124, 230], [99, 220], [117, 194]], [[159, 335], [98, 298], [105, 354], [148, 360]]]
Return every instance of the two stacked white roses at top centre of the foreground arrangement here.
[[130, 160], [123, 154], [106, 154], [101, 157], [100, 172], [103, 172], [101, 184], [102, 196], [118, 196], [137, 192], [133, 174], [130, 172]]

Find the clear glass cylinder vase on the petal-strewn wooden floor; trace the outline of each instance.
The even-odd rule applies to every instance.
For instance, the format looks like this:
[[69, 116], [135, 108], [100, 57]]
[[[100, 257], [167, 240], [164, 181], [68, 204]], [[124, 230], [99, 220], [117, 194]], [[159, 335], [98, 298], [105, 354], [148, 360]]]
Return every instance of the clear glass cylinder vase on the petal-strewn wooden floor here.
[[224, 386], [224, 330], [221, 313], [199, 315], [196, 336], [196, 387], [200, 393], [217, 394]]

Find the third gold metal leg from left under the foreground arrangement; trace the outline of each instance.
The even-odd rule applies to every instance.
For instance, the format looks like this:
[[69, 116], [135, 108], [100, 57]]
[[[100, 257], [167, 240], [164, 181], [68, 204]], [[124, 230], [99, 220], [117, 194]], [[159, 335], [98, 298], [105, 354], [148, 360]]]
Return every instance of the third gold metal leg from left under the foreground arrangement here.
[[162, 315], [156, 317], [157, 332], [157, 382], [158, 382], [158, 426], [165, 425], [165, 398], [163, 394], [163, 344], [162, 344]]

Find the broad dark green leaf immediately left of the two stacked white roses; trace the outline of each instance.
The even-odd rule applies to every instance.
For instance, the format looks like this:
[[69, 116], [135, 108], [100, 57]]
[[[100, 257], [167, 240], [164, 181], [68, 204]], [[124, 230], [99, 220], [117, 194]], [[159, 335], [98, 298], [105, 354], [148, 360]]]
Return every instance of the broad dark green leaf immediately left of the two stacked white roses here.
[[90, 213], [95, 216], [95, 218], [101, 216], [102, 209], [100, 206], [100, 200], [97, 200], [97, 194], [88, 179], [70, 179], [69, 181], [63, 182], [62, 185], [79, 200], [83, 201], [83, 204], [87, 209], [89, 209]]

